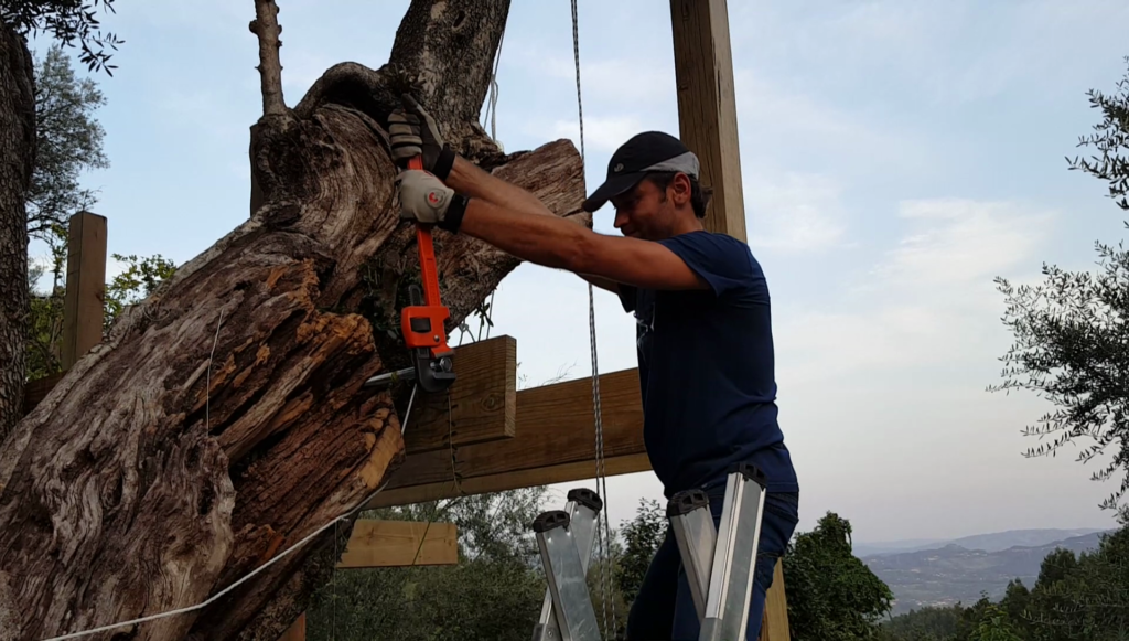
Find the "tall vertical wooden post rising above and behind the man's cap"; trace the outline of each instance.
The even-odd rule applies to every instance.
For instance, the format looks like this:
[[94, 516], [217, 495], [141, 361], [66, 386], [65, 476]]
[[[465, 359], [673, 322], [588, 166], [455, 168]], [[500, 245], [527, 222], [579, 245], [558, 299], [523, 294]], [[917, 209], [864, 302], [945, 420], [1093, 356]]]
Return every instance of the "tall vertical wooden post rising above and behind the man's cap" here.
[[706, 228], [745, 240], [726, 0], [671, 0], [671, 26], [680, 137], [701, 162], [702, 184], [714, 188]]

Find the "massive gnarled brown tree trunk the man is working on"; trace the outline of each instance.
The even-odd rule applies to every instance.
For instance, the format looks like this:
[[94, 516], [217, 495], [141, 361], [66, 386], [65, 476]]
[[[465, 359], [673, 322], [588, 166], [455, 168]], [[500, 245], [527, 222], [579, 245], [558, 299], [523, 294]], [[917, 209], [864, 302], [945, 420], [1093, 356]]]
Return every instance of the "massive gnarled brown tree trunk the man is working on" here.
[[[333, 67], [292, 110], [270, 60], [277, 9], [256, 9], [252, 216], [125, 313], [0, 452], [0, 640], [199, 604], [394, 473], [406, 398], [361, 384], [408, 363], [399, 309], [419, 266], [384, 130], [402, 92], [465, 156], [590, 224], [571, 142], [504, 156], [476, 123], [508, 0], [414, 0], [388, 64]], [[517, 260], [441, 231], [435, 241], [450, 330]], [[208, 608], [115, 632], [273, 641], [350, 529]]]

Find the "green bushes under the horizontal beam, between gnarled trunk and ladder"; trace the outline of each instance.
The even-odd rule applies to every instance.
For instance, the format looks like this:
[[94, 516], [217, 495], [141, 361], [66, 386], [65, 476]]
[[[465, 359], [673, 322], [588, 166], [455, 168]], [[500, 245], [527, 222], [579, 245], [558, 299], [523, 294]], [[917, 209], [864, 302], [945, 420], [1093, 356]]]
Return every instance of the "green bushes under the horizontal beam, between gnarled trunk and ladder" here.
[[460, 562], [335, 572], [314, 596], [310, 639], [526, 641], [545, 590], [530, 528], [544, 496], [531, 487], [364, 513], [454, 522]]

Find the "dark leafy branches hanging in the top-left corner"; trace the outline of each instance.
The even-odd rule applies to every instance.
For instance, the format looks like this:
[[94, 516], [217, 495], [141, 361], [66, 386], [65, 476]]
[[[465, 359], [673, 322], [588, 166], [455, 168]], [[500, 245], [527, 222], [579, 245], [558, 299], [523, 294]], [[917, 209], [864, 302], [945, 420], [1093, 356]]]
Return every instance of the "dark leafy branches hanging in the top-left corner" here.
[[99, 8], [113, 12], [114, 0], [3, 0], [0, 2], [0, 19], [19, 34], [46, 32], [67, 46], [81, 49], [79, 60], [87, 69], [104, 70], [113, 76], [116, 64], [110, 64], [113, 54], [106, 47], [117, 50], [120, 40], [113, 33], [103, 34], [95, 15]]

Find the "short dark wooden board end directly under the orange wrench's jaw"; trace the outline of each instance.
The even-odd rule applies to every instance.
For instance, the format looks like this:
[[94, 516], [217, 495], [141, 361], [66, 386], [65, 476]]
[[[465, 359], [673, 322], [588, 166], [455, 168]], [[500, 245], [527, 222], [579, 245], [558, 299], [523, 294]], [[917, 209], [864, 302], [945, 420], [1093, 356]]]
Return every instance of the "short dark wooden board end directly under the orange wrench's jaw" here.
[[517, 421], [517, 339], [499, 336], [455, 349], [448, 395], [423, 393], [408, 419], [409, 453], [447, 450], [515, 434]]

